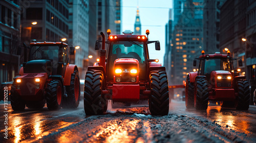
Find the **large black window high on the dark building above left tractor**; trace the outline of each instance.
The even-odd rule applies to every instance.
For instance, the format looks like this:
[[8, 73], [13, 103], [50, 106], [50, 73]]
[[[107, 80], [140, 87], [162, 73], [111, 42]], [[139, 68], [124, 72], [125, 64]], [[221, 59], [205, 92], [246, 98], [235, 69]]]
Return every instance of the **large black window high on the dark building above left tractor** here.
[[26, 10], [27, 20], [41, 20], [42, 19], [42, 8], [28, 8]]

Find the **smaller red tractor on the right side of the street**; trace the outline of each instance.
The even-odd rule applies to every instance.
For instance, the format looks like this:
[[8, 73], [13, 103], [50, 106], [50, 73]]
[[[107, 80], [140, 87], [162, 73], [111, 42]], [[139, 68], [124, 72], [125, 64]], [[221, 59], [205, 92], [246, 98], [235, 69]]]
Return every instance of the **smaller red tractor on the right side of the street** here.
[[[233, 59], [228, 55], [206, 54], [194, 60], [194, 66], [200, 60], [198, 71], [187, 75], [185, 102], [187, 108], [206, 110], [208, 101], [220, 101], [221, 107], [235, 107], [248, 110], [250, 89], [245, 76], [234, 71]], [[239, 60], [242, 66], [242, 60]]]

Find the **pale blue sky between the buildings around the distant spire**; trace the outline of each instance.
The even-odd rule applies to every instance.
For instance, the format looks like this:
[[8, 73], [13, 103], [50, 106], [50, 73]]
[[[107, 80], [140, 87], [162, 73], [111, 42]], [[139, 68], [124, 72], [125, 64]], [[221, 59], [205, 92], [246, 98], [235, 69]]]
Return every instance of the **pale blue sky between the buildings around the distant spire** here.
[[169, 9], [172, 8], [172, 0], [123, 0], [122, 1], [122, 31], [134, 31], [136, 9], [139, 7], [141, 22], [141, 34], [146, 35], [150, 30], [148, 38], [159, 40], [161, 50], [156, 51], [155, 45], [150, 46], [150, 58], [159, 59], [163, 64], [165, 51], [165, 24], [169, 19]]

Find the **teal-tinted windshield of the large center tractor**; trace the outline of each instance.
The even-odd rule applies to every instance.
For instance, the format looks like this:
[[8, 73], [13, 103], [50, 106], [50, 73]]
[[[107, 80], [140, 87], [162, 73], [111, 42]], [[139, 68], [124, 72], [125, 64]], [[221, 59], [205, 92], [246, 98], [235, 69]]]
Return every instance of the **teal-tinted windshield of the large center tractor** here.
[[144, 63], [145, 54], [143, 42], [138, 41], [115, 41], [112, 42], [110, 61], [118, 58], [135, 58], [139, 63]]

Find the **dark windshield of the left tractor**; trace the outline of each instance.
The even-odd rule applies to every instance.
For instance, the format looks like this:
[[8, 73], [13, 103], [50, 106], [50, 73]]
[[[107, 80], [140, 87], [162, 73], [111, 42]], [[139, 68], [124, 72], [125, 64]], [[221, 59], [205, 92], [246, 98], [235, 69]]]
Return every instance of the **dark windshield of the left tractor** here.
[[37, 45], [32, 46], [30, 49], [30, 60], [53, 60], [58, 61], [59, 46], [46, 46], [46, 45]]

